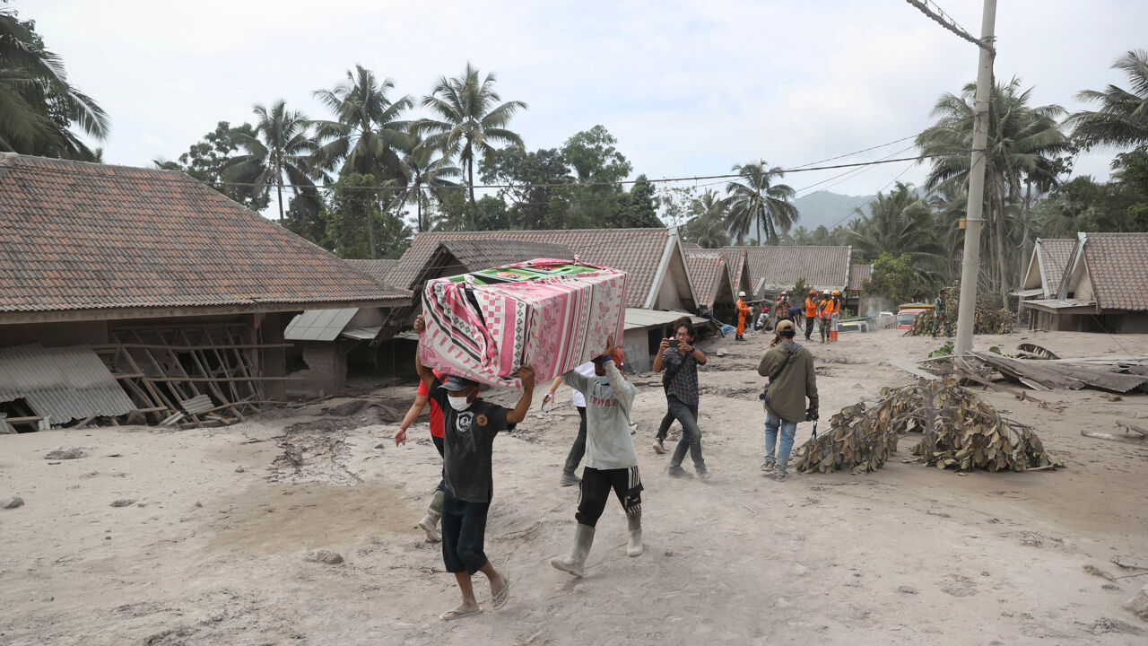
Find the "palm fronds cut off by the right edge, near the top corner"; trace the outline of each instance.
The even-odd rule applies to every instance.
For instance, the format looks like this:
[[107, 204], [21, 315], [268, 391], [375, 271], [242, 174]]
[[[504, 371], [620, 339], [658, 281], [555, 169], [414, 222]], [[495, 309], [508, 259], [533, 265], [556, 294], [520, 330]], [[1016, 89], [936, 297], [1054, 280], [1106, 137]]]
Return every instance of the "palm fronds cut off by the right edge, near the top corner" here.
[[1128, 76], [1132, 90], [1109, 85], [1108, 90], [1085, 90], [1077, 100], [1100, 103], [1096, 111], [1080, 110], [1069, 117], [1072, 136], [1085, 148], [1093, 146], [1134, 147], [1148, 144], [1148, 51], [1133, 49], [1112, 63]]

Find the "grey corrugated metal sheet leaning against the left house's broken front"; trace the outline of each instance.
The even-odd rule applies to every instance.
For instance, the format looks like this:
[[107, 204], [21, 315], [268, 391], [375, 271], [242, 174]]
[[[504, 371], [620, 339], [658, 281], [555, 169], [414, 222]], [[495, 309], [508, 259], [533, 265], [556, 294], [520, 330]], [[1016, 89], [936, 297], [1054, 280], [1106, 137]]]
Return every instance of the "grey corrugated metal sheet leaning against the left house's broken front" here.
[[90, 346], [0, 348], [0, 401], [24, 399], [53, 424], [135, 410]]

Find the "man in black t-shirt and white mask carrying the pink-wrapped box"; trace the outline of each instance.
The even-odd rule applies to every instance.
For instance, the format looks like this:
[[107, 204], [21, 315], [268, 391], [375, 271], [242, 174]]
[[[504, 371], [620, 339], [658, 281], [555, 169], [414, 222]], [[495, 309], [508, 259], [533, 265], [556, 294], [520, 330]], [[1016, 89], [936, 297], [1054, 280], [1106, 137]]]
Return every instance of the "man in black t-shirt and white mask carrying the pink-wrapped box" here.
[[[421, 316], [414, 320], [414, 331], [420, 334], [421, 344], [426, 331]], [[495, 570], [482, 549], [494, 497], [491, 448], [499, 431], [513, 430], [526, 418], [534, 394], [534, 367], [523, 366], [517, 374], [522, 379], [522, 397], [513, 409], [480, 399], [479, 385], [470, 379], [452, 375], [439, 379], [422, 366], [417, 352], [414, 369], [429, 389], [430, 399], [442, 408], [442, 479], [447, 487], [442, 505], [442, 560], [463, 592], [461, 605], [440, 618], [457, 620], [482, 612], [471, 585], [474, 572], [487, 576], [494, 608], [502, 608], [510, 598], [510, 577]]]

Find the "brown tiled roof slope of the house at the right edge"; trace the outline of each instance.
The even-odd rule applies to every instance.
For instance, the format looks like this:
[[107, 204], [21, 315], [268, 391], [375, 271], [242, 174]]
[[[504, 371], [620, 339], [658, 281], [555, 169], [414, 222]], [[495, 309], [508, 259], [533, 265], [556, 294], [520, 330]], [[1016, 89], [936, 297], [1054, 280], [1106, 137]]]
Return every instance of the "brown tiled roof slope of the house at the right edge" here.
[[1148, 233], [1088, 233], [1084, 256], [1101, 309], [1148, 309]]

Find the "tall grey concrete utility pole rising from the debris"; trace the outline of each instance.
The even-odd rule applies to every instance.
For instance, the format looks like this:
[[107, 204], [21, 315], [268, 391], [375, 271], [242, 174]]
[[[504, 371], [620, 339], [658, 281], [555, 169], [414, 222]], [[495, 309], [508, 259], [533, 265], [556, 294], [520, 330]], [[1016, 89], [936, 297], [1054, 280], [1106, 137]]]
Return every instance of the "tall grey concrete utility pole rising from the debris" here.
[[969, 203], [965, 208], [964, 257], [961, 263], [961, 305], [956, 317], [956, 354], [972, 349], [972, 325], [977, 312], [977, 278], [980, 275], [980, 223], [985, 208], [985, 147], [988, 144], [988, 95], [993, 86], [993, 29], [996, 0], [985, 0], [980, 18], [980, 59], [977, 68], [977, 99], [972, 116], [972, 166], [969, 168]]

